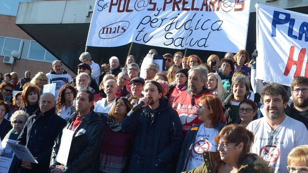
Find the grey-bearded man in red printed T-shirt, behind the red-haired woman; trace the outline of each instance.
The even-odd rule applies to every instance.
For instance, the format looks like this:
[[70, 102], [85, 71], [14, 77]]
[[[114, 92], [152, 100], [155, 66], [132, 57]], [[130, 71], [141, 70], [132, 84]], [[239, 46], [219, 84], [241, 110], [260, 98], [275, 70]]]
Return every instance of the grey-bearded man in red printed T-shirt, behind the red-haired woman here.
[[188, 71], [188, 89], [176, 95], [173, 102], [175, 109], [182, 123], [184, 137], [187, 132], [198, 123], [202, 123], [198, 119], [198, 99], [203, 95], [213, 95], [212, 92], [205, 87], [208, 73], [201, 66], [194, 66]]

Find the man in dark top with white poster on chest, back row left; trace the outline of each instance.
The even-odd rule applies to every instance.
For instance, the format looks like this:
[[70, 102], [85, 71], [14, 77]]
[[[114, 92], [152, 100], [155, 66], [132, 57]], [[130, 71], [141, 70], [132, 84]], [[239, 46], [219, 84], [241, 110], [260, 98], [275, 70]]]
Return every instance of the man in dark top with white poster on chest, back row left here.
[[58, 92], [60, 88], [67, 84], [68, 81], [72, 80], [71, 75], [67, 73], [62, 68], [62, 62], [59, 60], [55, 60], [52, 64], [52, 69], [50, 70], [50, 73], [47, 73], [46, 76], [48, 78], [49, 83], [56, 83], [56, 97], [58, 96]]

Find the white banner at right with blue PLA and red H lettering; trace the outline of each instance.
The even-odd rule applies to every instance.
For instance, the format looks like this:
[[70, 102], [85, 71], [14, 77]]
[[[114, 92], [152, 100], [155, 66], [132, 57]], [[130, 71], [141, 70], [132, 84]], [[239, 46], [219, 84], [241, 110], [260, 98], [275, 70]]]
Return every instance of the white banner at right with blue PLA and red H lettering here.
[[308, 15], [262, 4], [257, 8], [257, 79], [290, 86], [308, 77]]

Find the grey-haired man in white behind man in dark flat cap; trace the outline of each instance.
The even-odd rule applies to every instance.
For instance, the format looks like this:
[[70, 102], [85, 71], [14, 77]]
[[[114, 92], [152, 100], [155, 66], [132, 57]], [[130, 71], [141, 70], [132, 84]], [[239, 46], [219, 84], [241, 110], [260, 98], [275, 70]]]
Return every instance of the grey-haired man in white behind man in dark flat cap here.
[[95, 79], [97, 84], [99, 84], [100, 67], [97, 63], [91, 60], [91, 54], [89, 52], [83, 52], [80, 55], [79, 60], [90, 65], [92, 71], [91, 77]]

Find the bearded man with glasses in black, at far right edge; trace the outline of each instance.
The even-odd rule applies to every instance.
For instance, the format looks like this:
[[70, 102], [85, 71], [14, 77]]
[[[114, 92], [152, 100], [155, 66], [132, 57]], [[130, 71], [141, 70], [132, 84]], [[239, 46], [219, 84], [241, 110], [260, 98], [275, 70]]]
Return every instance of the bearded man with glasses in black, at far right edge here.
[[308, 78], [298, 76], [291, 83], [293, 102], [290, 104], [290, 117], [306, 125], [308, 129]]

